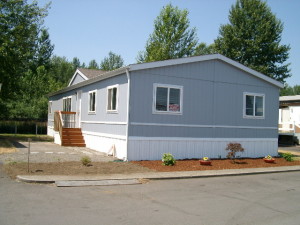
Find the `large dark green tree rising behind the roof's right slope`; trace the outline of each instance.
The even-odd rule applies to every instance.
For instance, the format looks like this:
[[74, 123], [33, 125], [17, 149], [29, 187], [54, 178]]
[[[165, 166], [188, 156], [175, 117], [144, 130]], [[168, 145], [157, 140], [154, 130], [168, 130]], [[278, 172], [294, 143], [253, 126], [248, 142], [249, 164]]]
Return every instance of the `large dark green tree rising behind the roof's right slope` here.
[[290, 77], [290, 47], [281, 45], [283, 23], [261, 0], [237, 0], [229, 11], [229, 24], [222, 25], [215, 40], [220, 53], [271, 78]]

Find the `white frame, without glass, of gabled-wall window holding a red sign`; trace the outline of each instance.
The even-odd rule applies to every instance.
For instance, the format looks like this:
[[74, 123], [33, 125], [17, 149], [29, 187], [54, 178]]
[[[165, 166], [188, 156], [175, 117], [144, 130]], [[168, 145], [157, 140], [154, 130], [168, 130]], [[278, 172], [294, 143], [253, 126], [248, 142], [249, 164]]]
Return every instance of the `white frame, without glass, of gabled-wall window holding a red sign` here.
[[[168, 99], [167, 99], [167, 111], [158, 111], [156, 110], [156, 91], [157, 88], [168, 88]], [[170, 93], [170, 88], [174, 89], [179, 89], [180, 90], [180, 111], [174, 112], [169, 110], [169, 93]], [[168, 115], [182, 115], [182, 109], [183, 109], [183, 86], [179, 85], [172, 85], [172, 84], [159, 84], [159, 83], [154, 83], [153, 84], [153, 104], [152, 104], [152, 113], [153, 114], [168, 114]]]

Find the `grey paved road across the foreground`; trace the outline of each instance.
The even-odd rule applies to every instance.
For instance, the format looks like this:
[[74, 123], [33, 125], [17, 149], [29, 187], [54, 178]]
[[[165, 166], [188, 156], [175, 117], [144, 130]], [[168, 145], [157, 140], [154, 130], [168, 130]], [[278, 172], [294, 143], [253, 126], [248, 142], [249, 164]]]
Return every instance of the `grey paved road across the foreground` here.
[[298, 225], [300, 172], [79, 188], [0, 172], [0, 199], [1, 225]]

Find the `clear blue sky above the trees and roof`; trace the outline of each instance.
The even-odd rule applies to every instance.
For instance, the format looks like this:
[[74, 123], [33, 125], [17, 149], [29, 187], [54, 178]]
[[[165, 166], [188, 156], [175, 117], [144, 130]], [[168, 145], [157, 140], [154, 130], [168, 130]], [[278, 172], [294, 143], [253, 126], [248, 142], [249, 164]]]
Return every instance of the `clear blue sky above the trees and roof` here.
[[[31, 2], [31, 1], [29, 1]], [[39, 0], [44, 6], [47, 0]], [[300, 84], [300, 1], [268, 0], [272, 12], [284, 23], [282, 44], [291, 46], [289, 85]], [[98, 63], [109, 51], [120, 54], [125, 64], [136, 63], [153, 31], [153, 21], [163, 6], [172, 3], [189, 11], [191, 27], [199, 42], [213, 43], [235, 0], [52, 0], [45, 26], [55, 45], [54, 54], [81, 62]]]

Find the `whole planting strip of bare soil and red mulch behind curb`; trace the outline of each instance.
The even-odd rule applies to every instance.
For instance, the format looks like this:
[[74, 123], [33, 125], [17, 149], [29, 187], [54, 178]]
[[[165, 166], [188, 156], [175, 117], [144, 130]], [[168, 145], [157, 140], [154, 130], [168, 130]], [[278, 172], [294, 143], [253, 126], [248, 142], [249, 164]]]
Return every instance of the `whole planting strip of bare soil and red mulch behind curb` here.
[[145, 172], [173, 172], [195, 170], [224, 170], [276, 166], [300, 165], [300, 161], [288, 162], [276, 158], [275, 163], [266, 163], [260, 159], [237, 159], [232, 163], [229, 159], [212, 160], [211, 166], [200, 165], [199, 160], [177, 160], [174, 166], [164, 166], [162, 161], [131, 161], [131, 162], [92, 162], [92, 166], [83, 166], [81, 162], [30, 163], [30, 173], [27, 173], [27, 163], [8, 163], [3, 165], [5, 172], [15, 178], [17, 175], [105, 175], [129, 174]]

